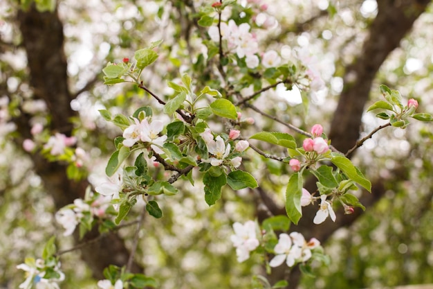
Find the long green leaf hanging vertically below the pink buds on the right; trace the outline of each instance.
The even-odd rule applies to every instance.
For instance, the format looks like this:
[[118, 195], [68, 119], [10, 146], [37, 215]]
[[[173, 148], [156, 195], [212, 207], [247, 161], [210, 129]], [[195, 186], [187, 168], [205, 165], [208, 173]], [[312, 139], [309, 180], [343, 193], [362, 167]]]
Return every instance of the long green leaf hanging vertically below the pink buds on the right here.
[[289, 179], [286, 189], [286, 213], [295, 225], [302, 216], [301, 197], [302, 175], [295, 173]]

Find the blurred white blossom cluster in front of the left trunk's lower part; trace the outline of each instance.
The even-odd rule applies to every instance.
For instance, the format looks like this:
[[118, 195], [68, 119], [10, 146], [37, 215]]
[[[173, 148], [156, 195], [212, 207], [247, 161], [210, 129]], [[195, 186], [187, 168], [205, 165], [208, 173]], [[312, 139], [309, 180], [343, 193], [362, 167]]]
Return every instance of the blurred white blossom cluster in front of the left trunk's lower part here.
[[90, 200], [75, 199], [73, 204], [55, 213], [55, 220], [65, 229], [64, 236], [70, 236], [80, 222], [91, 223], [93, 219], [104, 218], [110, 200], [104, 195], [93, 196]]

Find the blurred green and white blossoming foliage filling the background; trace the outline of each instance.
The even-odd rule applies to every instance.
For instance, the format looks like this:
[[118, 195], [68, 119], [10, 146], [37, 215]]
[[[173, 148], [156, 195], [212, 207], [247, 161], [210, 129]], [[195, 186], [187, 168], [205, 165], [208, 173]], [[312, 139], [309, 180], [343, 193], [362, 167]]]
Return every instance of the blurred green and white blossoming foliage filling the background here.
[[[143, 73], [153, 91], [169, 98], [172, 91], [167, 89], [166, 81], [176, 80], [185, 71], [196, 81], [196, 87], [212, 83], [218, 88], [219, 80], [203, 64], [206, 49], [201, 37], [207, 37], [206, 29], [194, 24], [199, 9], [210, 6], [212, 1], [62, 0], [57, 4], [64, 24], [69, 87], [76, 96], [71, 102], [78, 113], [73, 119], [73, 131], [80, 146], [89, 152], [86, 166], [89, 181], [95, 183], [103, 177], [107, 157], [114, 149], [113, 137], [120, 135], [120, 130], [105, 122], [98, 110], [107, 108], [113, 114], [127, 115], [143, 105], [153, 106], [154, 113], [162, 110], [134, 86], [102, 85], [102, 68], [109, 61], [132, 58], [133, 51], [163, 38], [160, 58]], [[266, 5], [266, 10], [261, 5]], [[27, 113], [32, 114], [33, 122], [50, 121], [44, 105], [40, 108], [38, 100], [33, 99], [28, 82], [30, 71], [17, 19], [19, 6], [13, 0], [0, 3], [1, 288], [17, 288], [23, 275], [15, 266], [26, 256], [42, 254], [49, 236], [58, 236], [62, 249], [73, 246], [71, 238], [61, 236], [48, 188], [17, 141], [15, 116]], [[255, 16], [260, 11], [275, 17], [277, 24], [272, 28], [257, 25]], [[230, 15], [241, 17], [241, 21], [251, 24], [263, 51], [275, 49], [290, 61], [293, 48], [303, 47], [317, 58], [326, 89], [316, 94], [303, 91], [303, 103], [287, 99], [279, 91], [266, 91], [255, 105], [305, 130], [321, 123], [327, 131], [343, 89], [345, 68], [360, 53], [376, 13], [374, 0], [239, 0], [223, 15], [226, 19]], [[406, 98], [416, 98], [419, 111], [433, 112], [432, 22], [430, 6], [380, 68], [369, 103], [381, 98], [378, 85], [385, 84], [400, 90]], [[287, 131], [255, 112], [246, 110], [243, 115], [256, 121], [244, 128], [245, 136], [271, 128]], [[365, 114], [361, 135], [382, 123], [374, 114]], [[317, 277], [304, 277], [302, 288], [433, 283], [432, 142], [432, 125], [414, 122], [406, 130], [380, 131], [358, 150], [353, 161], [372, 182], [380, 181], [385, 195], [367, 207], [366, 213], [350, 227], [338, 229], [323, 244], [331, 256], [331, 265], [315, 268]], [[274, 154], [284, 153], [268, 149]], [[248, 158], [248, 169], [264, 189], [273, 192], [275, 202], [282, 204], [288, 169], [254, 153]], [[158, 168], [155, 170], [158, 173]], [[145, 267], [147, 275], [160, 281], [163, 289], [250, 288], [252, 274], [263, 274], [260, 260], [253, 256], [245, 263], [237, 263], [230, 235], [232, 222], [256, 218], [260, 209], [257, 193], [227, 189], [223, 198], [209, 208], [201, 184], [176, 186], [182, 193], [160, 202], [164, 218], [146, 218], [136, 261]], [[138, 216], [142, 207], [134, 209], [130, 220]], [[131, 246], [134, 229], [128, 227], [119, 232], [127, 247]], [[62, 256], [66, 281], [61, 287], [95, 288], [91, 270], [78, 255], [74, 252]]]

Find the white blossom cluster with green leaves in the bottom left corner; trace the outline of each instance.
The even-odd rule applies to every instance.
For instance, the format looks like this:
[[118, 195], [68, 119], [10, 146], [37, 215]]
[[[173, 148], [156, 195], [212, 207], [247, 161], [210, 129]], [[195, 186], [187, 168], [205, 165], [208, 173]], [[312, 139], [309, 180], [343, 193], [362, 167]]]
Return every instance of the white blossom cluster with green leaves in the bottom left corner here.
[[44, 259], [26, 259], [25, 263], [17, 265], [17, 269], [26, 272], [26, 280], [19, 289], [59, 289], [59, 282], [64, 280], [64, 273], [60, 271], [60, 263], [45, 261]]

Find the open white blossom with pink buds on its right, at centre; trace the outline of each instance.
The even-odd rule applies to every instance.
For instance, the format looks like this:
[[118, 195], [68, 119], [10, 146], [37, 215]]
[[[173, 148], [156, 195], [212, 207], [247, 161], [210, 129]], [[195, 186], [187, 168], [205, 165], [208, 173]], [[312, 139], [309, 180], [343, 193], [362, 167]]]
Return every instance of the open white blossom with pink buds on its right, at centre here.
[[[229, 139], [237, 139], [239, 134], [239, 130], [230, 130]], [[205, 131], [200, 134], [200, 136], [203, 141], [205, 141], [208, 152], [210, 155], [212, 155], [212, 157], [208, 159], [202, 159], [202, 161], [210, 163], [212, 166], [221, 166], [225, 159], [230, 156], [230, 143], [225, 144], [225, 141], [219, 135], [214, 139], [214, 135], [212, 134], [210, 128], [206, 128]], [[243, 152], [248, 148], [248, 146], [248, 141], [237, 141], [236, 145], [234, 146], [234, 152]], [[241, 165], [242, 157], [232, 157], [229, 161], [234, 168], [238, 168]]]

